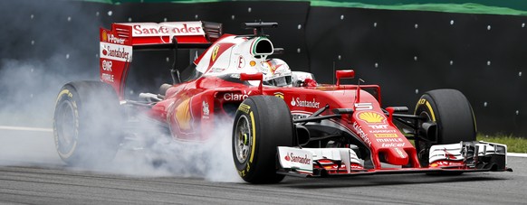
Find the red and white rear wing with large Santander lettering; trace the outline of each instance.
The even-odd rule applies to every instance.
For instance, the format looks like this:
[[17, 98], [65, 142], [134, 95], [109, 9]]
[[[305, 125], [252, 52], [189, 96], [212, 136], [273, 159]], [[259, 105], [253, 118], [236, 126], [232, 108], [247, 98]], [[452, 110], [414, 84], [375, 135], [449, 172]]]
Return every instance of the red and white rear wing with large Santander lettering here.
[[112, 23], [100, 29], [100, 77], [124, 98], [132, 53], [137, 50], [208, 48], [222, 35], [221, 23]]

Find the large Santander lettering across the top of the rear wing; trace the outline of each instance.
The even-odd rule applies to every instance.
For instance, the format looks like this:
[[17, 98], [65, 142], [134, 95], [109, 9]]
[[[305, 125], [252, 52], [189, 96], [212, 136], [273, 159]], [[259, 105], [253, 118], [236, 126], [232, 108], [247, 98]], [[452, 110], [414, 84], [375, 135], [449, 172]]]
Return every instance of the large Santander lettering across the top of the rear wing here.
[[161, 35], [195, 35], [203, 34], [201, 26], [196, 26], [198, 24], [193, 23], [188, 26], [190, 23], [141, 23], [133, 25], [133, 35], [134, 36], [158, 36]]

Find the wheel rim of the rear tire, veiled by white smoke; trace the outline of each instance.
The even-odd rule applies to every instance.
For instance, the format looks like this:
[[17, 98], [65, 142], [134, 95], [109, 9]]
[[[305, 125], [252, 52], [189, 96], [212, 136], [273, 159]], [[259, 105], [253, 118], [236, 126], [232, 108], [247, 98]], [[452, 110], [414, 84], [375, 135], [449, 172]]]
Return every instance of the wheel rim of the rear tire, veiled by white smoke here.
[[72, 102], [62, 101], [55, 116], [58, 145], [62, 154], [68, 153], [75, 143], [76, 122], [77, 116]]

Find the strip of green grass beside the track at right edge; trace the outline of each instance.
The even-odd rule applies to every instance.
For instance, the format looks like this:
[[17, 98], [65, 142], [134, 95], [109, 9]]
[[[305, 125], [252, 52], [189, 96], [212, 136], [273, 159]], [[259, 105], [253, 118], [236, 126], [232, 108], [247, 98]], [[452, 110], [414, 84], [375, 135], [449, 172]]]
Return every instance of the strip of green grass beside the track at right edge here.
[[527, 153], [527, 138], [513, 135], [477, 135], [477, 140], [490, 143], [507, 144], [509, 153]]

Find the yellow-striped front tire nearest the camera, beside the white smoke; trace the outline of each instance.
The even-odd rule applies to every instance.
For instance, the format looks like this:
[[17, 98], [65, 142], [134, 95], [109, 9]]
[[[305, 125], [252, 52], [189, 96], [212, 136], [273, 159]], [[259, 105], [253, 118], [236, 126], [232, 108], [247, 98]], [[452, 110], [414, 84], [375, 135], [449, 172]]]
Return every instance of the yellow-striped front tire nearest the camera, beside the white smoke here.
[[233, 158], [245, 182], [277, 183], [277, 147], [292, 146], [292, 116], [282, 98], [254, 96], [238, 107], [233, 127]]

